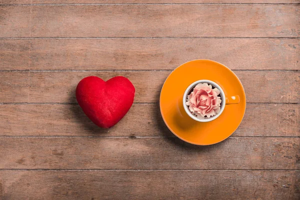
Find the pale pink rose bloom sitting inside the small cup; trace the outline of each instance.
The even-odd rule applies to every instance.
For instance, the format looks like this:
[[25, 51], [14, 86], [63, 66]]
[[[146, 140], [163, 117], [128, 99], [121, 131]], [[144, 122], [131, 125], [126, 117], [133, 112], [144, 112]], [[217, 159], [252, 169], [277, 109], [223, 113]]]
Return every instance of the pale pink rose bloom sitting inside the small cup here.
[[198, 83], [187, 95], [187, 101], [189, 110], [197, 115], [197, 118], [203, 119], [204, 116], [211, 117], [216, 115], [220, 111], [221, 97], [217, 96], [220, 90], [213, 88], [209, 84]]

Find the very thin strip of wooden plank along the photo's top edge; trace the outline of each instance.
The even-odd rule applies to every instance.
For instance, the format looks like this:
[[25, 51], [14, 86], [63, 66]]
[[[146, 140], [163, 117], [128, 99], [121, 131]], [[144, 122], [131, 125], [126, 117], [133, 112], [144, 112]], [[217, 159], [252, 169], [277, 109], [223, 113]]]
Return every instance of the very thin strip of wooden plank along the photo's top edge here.
[[298, 3], [298, 0], [0, 0], [0, 4], [36, 3]]

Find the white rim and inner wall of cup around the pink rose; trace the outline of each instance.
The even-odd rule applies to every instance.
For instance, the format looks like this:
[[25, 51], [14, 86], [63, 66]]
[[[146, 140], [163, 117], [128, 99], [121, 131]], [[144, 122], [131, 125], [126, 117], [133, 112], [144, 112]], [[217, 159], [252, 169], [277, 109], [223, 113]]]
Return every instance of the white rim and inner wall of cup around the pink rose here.
[[[212, 86], [218, 88], [220, 90], [220, 96], [221, 96], [221, 107], [220, 107], [220, 111], [219, 113], [217, 113], [216, 115], [212, 116], [212, 117], [209, 117], [209, 118], [204, 118], [204, 119], [200, 119], [200, 118], [197, 118], [196, 115], [192, 114], [191, 111], [189, 110], [188, 108], [188, 105], [185, 104], [186, 100], [187, 100], [187, 95], [192, 91], [192, 89], [196, 86], [196, 84], [198, 83], [208, 83], [208, 84], [211, 84]], [[211, 81], [211, 80], [197, 80], [193, 83], [191, 83], [184, 91], [184, 94], [183, 94], [183, 107], [184, 107], [184, 110], [185, 112], [188, 114], [188, 116], [190, 116], [192, 119], [196, 120], [196, 121], [200, 121], [200, 122], [208, 122], [208, 121], [212, 121], [214, 119], [216, 119], [224, 110], [224, 107], [225, 107], [225, 93], [223, 91], [223, 89], [218, 85], [216, 84], [215, 82]]]

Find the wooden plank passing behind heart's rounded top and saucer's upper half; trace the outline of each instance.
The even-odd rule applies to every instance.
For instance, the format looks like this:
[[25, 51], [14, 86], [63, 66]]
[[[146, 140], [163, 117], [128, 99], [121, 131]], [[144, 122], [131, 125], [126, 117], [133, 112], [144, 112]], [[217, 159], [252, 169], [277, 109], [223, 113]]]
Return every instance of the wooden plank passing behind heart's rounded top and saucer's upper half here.
[[[85, 76], [116, 75], [135, 86], [135, 102], [158, 102], [170, 71], [0, 71], [0, 102], [76, 102], [74, 90]], [[299, 71], [235, 71], [247, 102], [300, 102]], [[263, 92], [257, 88], [263, 87]]]

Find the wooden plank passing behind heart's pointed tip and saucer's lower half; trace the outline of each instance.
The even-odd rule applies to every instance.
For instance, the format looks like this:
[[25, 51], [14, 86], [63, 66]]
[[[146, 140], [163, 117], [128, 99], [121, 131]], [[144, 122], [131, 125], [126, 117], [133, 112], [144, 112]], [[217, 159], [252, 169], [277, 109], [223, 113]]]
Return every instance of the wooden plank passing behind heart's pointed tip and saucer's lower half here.
[[[109, 129], [93, 124], [79, 105], [2, 104], [0, 110], [0, 135], [175, 137], [164, 125], [158, 104], [133, 104]], [[299, 112], [299, 104], [247, 104], [233, 136], [299, 136]]]

